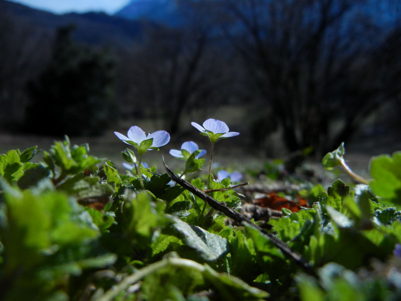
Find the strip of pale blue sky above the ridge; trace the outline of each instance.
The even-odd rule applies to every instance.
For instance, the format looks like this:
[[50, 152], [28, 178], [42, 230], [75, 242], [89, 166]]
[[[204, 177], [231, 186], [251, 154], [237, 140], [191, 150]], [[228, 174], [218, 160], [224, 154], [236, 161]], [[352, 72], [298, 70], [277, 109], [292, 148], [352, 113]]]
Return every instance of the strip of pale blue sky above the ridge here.
[[129, 0], [11, 0], [31, 8], [56, 14], [102, 11], [113, 14], [129, 3]]

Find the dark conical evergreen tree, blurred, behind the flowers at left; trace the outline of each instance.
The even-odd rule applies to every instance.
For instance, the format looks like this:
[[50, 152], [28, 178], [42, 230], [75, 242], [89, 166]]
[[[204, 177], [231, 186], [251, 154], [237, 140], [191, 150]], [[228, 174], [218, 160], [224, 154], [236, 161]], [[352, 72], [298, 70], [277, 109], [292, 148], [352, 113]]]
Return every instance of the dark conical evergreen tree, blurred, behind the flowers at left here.
[[115, 118], [115, 63], [105, 52], [79, 47], [72, 26], [57, 30], [52, 58], [38, 79], [29, 81], [24, 128], [57, 135], [100, 134]]

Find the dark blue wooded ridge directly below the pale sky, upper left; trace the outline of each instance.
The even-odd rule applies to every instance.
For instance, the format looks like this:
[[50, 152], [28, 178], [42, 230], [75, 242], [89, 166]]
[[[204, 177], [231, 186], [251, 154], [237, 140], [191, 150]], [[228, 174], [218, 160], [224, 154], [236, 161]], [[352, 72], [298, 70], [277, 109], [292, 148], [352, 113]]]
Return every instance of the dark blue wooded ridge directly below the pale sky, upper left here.
[[141, 38], [143, 30], [139, 21], [109, 16], [105, 13], [55, 15], [5, 0], [0, 0], [0, 11], [17, 22], [45, 31], [53, 32], [60, 26], [75, 24], [73, 38], [77, 42], [95, 46], [111, 45], [126, 48]]

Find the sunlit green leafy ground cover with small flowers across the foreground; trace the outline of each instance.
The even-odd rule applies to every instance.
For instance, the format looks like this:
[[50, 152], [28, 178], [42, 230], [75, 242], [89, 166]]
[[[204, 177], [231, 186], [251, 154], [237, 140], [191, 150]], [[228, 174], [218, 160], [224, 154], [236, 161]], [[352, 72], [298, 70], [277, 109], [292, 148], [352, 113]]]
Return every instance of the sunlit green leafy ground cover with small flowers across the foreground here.
[[[206, 125], [196, 128], [213, 144]], [[164, 142], [135, 130], [122, 137], [132, 142], [124, 172], [68, 137], [40, 162], [37, 146], [0, 156], [2, 300], [401, 298], [401, 153], [372, 158], [369, 179], [348, 171], [364, 184], [327, 190], [266, 166], [288, 184], [278, 195], [308, 206], [260, 219], [241, 210], [247, 186], [198, 172], [204, 152], [193, 144], [173, 152], [183, 160], [175, 174], [145, 167], [132, 149], [141, 157]], [[323, 166], [344, 167], [344, 153]]]

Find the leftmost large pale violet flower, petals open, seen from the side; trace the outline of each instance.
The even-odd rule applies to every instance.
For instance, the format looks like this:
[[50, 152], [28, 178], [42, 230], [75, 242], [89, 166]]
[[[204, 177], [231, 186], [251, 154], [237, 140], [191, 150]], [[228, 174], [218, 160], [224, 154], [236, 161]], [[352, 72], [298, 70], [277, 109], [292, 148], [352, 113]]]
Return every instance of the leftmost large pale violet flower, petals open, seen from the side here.
[[[140, 153], [145, 153], [146, 150], [157, 149], [157, 147], [163, 146], [170, 141], [170, 134], [165, 130], [158, 130], [153, 133], [146, 134], [139, 126], [136, 125], [131, 126], [128, 129], [127, 136], [116, 131], [114, 134], [123, 142], [135, 146]], [[153, 138], [151, 145], [147, 146], [146, 148], [141, 147], [141, 143], [143, 141], [151, 138]]]

